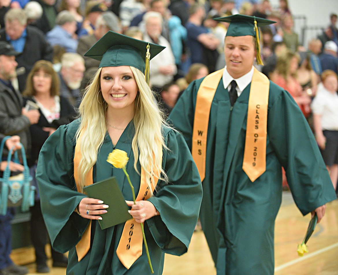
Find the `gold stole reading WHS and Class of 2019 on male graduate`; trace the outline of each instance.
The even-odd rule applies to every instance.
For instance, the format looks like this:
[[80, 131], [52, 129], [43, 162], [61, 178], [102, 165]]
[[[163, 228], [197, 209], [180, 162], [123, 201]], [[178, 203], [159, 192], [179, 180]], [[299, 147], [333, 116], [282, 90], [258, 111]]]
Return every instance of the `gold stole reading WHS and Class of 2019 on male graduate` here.
[[[197, 91], [191, 154], [196, 163], [201, 181], [205, 177], [206, 170], [207, 133], [211, 103], [219, 81], [222, 78], [223, 70], [206, 76]], [[242, 167], [252, 182], [262, 175], [266, 169], [266, 127], [269, 87], [269, 79], [254, 68], [248, 103]]]

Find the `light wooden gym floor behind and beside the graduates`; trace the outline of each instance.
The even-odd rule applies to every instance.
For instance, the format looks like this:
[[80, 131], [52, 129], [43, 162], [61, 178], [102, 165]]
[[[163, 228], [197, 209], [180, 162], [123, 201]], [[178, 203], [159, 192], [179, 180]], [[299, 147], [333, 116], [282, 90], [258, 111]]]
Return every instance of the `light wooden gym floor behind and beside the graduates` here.
[[[327, 204], [325, 217], [317, 224], [308, 242], [309, 253], [298, 257], [297, 245], [303, 241], [310, 219], [310, 214], [301, 215], [291, 193], [284, 191], [275, 226], [275, 275], [338, 275], [338, 200]], [[26, 262], [31, 258], [32, 262], [32, 257], [32, 248], [17, 249], [12, 253], [17, 263], [23, 258]], [[48, 264], [51, 266], [51, 262]], [[30, 275], [42, 274], [35, 273], [35, 264], [27, 267]], [[65, 275], [66, 269], [51, 268], [51, 272], [45, 274]], [[216, 275], [201, 230], [193, 234], [188, 253], [181, 257], [166, 255], [163, 275]]]

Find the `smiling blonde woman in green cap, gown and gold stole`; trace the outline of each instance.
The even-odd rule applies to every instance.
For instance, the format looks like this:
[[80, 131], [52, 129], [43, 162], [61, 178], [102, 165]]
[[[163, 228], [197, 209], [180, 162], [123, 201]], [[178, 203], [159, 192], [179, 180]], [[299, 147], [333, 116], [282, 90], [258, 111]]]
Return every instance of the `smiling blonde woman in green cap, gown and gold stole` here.
[[[124, 223], [102, 230], [97, 220], [114, 209], [82, 193], [88, 181], [116, 177], [132, 206], [135, 228], [144, 222], [154, 274], [162, 274], [164, 253], [187, 251], [194, 231], [202, 199], [199, 174], [182, 135], [165, 123], [145, 80], [147, 45], [112, 31], [105, 34], [85, 54], [101, 62], [79, 107], [80, 119], [59, 127], [41, 150], [42, 213], [53, 248], [69, 250], [67, 274], [150, 274], [142, 233], [136, 240], [139, 236]], [[149, 46], [150, 58], [163, 49]], [[153, 190], [152, 182], [157, 183], [150, 198], [143, 200], [141, 194], [134, 205], [124, 172], [106, 161], [113, 149], [127, 152], [135, 194], [144, 184]], [[130, 248], [124, 243], [129, 238]]]

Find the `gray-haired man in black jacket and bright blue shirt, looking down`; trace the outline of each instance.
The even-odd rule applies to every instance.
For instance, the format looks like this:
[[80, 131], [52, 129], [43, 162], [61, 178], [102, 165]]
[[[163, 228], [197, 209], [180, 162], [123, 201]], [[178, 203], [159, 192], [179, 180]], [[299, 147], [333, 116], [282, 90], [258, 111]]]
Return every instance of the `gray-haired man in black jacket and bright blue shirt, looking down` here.
[[[17, 52], [18, 68], [23, 67], [18, 75], [19, 90], [25, 89], [26, 78], [36, 61], [52, 61], [53, 48], [46, 41], [45, 35], [32, 26], [27, 26], [27, 16], [22, 9], [10, 9], [5, 15], [5, 28], [0, 30], [0, 41], [7, 41]], [[15, 41], [15, 42], [14, 42]]]

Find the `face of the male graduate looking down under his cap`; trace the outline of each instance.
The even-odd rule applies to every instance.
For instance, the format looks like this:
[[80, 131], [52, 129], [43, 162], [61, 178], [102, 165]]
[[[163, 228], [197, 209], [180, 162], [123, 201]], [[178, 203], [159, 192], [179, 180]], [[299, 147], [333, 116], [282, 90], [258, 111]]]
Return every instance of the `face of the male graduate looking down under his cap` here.
[[228, 73], [235, 79], [245, 75], [256, 57], [253, 36], [226, 36], [224, 54]]

